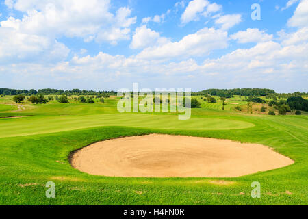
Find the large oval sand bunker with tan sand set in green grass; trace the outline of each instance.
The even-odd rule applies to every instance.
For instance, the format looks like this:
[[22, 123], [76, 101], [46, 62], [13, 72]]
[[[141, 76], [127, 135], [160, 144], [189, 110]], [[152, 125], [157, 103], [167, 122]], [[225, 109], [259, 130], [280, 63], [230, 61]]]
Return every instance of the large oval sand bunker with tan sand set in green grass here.
[[157, 134], [97, 142], [70, 161], [109, 177], [240, 177], [294, 163], [260, 144]]

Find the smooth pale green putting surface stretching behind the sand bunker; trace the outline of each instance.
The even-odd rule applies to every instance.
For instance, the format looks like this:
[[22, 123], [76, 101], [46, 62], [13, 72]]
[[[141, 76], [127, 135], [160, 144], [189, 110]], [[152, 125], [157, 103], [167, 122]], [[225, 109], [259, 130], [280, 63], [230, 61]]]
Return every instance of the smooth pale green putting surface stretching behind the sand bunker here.
[[229, 130], [253, 127], [253, 123], [211, 117], [179, 120], [175, 115], [96, 114], [84, 116], [29, 116], [1, 119], [0, 138], [54, 133], [99, 126], [129, 126], [151, 129]]

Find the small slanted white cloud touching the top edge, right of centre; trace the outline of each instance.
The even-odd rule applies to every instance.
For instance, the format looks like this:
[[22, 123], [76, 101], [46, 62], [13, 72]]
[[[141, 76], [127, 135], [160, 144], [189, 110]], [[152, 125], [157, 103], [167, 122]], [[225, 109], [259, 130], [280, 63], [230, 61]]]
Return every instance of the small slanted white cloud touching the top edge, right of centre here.
[[181, 16], [181, 23], [185, 24], [190, 21], [198, 20], [198, 15], [203, 12], [205, 7], [209, 5], [209, 1], [207, 0], [193, 0], [188, 3], [188, 6], [185, 9]]

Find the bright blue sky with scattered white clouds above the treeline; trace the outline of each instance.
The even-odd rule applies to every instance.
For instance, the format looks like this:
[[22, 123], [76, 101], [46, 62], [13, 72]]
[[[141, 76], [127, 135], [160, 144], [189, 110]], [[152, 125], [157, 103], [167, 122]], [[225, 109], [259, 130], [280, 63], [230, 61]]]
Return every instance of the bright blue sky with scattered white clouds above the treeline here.
[[308, 0], [0, 0], [0, 87], [133, 83], [307, 92]]

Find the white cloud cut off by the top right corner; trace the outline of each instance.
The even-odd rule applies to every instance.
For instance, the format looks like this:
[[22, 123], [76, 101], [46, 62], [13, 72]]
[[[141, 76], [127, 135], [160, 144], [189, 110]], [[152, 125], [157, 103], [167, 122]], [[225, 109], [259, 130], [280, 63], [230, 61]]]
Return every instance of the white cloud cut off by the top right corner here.
[[308, 0], [300, 1], [287, 25], [289, 27], [308, 27]]

